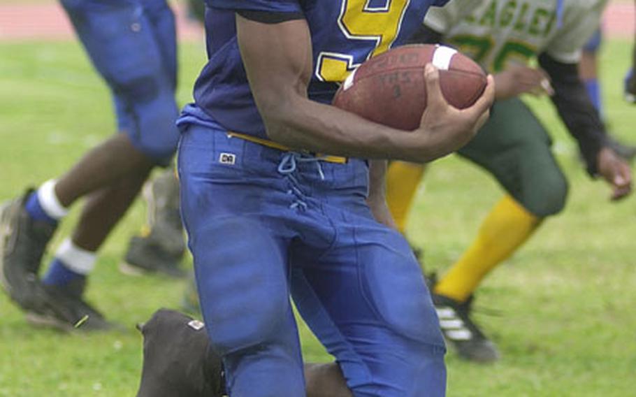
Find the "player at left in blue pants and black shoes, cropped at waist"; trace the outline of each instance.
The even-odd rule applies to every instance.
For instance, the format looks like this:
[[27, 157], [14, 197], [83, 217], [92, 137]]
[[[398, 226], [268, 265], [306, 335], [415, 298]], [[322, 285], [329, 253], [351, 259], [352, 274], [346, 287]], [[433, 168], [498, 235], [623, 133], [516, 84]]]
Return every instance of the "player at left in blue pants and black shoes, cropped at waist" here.
[[[85, 302], [96, 251], [122, 218], [154, 166], [175, 152], [175, 20], [165, 0], [62, 0], [78, 37], [113, 94], [120, 133], [89, 151], [57, 180], [5, 203], [1, 275], [10, 298], [36, 324], [84, 330], [110, 323]], [[42, 280], [46, 246], [78, 198], [78, 225]]]

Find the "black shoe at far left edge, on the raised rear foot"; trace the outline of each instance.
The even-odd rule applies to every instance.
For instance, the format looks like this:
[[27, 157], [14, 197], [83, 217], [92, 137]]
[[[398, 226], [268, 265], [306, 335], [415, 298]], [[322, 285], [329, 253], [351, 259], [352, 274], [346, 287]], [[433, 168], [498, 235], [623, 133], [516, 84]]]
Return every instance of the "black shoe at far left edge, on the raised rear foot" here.
[[38, 273], [56, 226], [31, 218], [24, 205], [33, 192], [0, 208], [0, 281], [23, 310], [40, 310], [44, 299]]

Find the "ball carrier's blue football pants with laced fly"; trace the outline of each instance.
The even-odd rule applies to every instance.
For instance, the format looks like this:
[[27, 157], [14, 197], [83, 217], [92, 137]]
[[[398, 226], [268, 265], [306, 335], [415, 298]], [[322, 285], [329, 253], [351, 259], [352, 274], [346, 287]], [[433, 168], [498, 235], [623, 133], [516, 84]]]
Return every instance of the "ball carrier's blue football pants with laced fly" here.
[[366, 162], [182, 130], [182, 217], [231, 396], [305, 395], [289, 294], [355, 396], [444, 396], [438, 319], [410, 247], [366, 205]]

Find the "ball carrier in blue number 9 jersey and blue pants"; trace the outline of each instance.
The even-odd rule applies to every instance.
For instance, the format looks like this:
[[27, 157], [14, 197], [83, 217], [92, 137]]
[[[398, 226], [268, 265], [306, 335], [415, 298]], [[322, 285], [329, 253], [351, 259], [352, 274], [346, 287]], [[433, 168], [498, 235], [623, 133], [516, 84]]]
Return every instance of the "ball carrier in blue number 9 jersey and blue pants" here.
[[410, 132], [329, 105], [356, 65], [405, 43], [445, 2], [206, 1], [209, 60], [178, 122], [178, 171], [230, 396], [305, 395], [290, 294], [354, 396], [445, 395], [431, 297], [386, 226], [384, 159], [432, 161], [464, 145], [486, 120], [492, 79], [457, 110], [428, 65], [428, 108]]

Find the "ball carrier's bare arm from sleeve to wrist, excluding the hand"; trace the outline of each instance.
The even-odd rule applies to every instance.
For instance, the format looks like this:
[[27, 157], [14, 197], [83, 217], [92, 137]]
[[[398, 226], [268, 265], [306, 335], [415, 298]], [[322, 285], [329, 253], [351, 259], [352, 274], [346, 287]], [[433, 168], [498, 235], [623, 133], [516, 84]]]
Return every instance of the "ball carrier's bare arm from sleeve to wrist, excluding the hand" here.
[[239, 15], [236, 24], [247, 78], [270, 139], [347, 157], [428, 159], [428, 148], [424, 153], [412, 149], [417, 145], [410, 144], [411, 134], [308, 99], [313, 66], [305, 20], [264, 24]]

